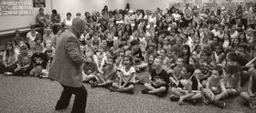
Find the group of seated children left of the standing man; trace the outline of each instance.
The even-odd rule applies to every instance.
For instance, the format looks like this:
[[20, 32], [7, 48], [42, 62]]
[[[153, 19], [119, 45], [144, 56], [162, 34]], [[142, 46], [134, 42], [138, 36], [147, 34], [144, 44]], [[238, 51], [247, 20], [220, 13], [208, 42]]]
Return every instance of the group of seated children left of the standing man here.
[[48, 77], [48, 68], [53, 59], [51, 46], [44, 46], [37, 34], [34, 41], [8, 41], [5, 44], [0, 71], [5, 76]]

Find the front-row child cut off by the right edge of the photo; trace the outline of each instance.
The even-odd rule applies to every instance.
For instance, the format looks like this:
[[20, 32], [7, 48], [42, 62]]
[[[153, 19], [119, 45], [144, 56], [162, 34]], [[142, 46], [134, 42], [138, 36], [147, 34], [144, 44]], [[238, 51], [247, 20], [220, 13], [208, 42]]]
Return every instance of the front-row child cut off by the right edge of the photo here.
[[240, 93], [240, 97], [245, 101], [243, 104], [247, 106], [249, 105], [250, 98], [256, 96], [256, 70], [253, 67], [253, 69], [250, 69], [249, 71], [251, 77], [249, 79], [247, 91]]

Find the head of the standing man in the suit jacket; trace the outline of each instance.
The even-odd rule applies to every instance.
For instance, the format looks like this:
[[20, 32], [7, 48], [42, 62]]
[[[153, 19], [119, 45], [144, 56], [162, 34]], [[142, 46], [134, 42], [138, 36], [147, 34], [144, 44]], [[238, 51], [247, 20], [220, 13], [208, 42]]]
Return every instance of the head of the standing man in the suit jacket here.
[[86, 26], [85, 20], [80, 17], [75, 17], [72, 21], [72, 28], [75, 29], [80, 35], [83, 33]]

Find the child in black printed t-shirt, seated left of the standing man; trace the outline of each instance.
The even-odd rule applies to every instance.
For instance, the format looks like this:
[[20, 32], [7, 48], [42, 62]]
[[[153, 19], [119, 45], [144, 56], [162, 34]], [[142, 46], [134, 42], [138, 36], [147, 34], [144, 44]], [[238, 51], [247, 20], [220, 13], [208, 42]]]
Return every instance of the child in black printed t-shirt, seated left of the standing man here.
[[38, 77], [41, 74], [42, 69], [47, 67], [48, 58], [42, 51], [42, 47], [37, 47], [36, 53], [31, 56], [32, 70], [29, 73], [31, 77]]

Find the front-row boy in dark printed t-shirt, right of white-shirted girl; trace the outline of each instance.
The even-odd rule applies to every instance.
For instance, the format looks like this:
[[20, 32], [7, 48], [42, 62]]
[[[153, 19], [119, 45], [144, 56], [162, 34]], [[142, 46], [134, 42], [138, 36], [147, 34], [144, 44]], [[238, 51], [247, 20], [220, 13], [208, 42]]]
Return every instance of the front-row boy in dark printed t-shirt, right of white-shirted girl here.
[[163, 68], [163, 60], [156, 57], [151, 71], [151, 83], [145, 83], [144, 94], [156, 95], [159, 98], [164, 97], [168, 93], [168, 84], [170, 83], [168, 74]]

